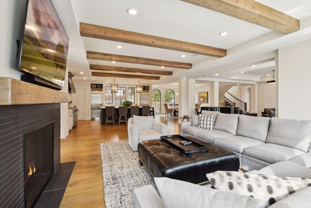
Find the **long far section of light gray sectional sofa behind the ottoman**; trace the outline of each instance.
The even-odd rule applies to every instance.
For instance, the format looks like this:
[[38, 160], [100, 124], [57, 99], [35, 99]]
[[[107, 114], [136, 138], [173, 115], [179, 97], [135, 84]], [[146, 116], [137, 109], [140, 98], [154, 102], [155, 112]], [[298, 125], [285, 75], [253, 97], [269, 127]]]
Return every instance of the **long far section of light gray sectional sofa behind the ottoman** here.
[[194, 136], [235, 152], [243, 170], [294, 161], [311, 167], [311, 120], [254, 117], [202, 111], [215, 115], [214, 130], [199, 128], [199, 115], [180, 122], [180, 134]]

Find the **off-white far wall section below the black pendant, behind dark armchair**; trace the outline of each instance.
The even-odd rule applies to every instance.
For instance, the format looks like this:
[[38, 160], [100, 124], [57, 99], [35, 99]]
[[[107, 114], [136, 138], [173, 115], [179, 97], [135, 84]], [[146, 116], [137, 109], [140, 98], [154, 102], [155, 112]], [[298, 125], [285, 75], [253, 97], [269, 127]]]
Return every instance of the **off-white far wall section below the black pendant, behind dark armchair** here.
[[266, 81], [257, 83], [257, 116], [265, 108], [276, 108], [276, 84], [267, 84]]

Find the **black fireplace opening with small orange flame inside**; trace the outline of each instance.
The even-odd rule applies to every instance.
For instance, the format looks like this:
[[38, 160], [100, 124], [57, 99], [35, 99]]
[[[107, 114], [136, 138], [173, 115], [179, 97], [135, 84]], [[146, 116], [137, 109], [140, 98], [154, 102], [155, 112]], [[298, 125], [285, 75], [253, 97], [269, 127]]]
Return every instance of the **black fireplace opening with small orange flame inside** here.
[[31, 208], [53, 174], [53, 127], [47, 124], [24, 134], [25, 207]]

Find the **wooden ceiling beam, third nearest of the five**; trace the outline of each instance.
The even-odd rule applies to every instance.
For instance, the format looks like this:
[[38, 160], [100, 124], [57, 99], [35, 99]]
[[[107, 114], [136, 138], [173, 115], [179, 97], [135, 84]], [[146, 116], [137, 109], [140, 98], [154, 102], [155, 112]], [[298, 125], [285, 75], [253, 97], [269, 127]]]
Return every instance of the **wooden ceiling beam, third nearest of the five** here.
[[116, 54], [105, 54], [105, 53], [92, 52], [92, 51], [86, 51], [86, 57], [89, 59], [146, 64], [146, 65], [153, 65], [153, 66], [165, 66], [165, 67], [173, 67], [173, 68], [181, 68], [181, 69], [192, 68], [191, 63], [165, 61], [165, 60], [142, 58], [142, 57], [129, 57], [129, 56], [121, 56], [121, 55], [116, 55]]

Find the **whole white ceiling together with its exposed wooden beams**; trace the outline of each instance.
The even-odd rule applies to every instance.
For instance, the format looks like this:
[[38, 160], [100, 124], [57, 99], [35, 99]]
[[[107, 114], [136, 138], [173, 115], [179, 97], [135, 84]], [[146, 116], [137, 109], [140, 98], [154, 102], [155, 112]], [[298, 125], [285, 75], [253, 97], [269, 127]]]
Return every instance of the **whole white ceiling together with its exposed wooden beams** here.
[[[310, 37], [303, 31], [308, 26], [300, 26], [310, 21], [309, 0], [74, 0], [71, 5], [80, 38], [70, 32], [69, 38], [80, 41], [84, 57], [77, 55], [81, 64], [69, 70], [76, 79], [94, 82], [116, 77], [123, 84], [138, 79], [164, 84], [180, 76], [260, 81], [275, 68], [277, 48], [297, 42], [300, 32]], [[126, 12], [131, 7], [137, 15]]]

